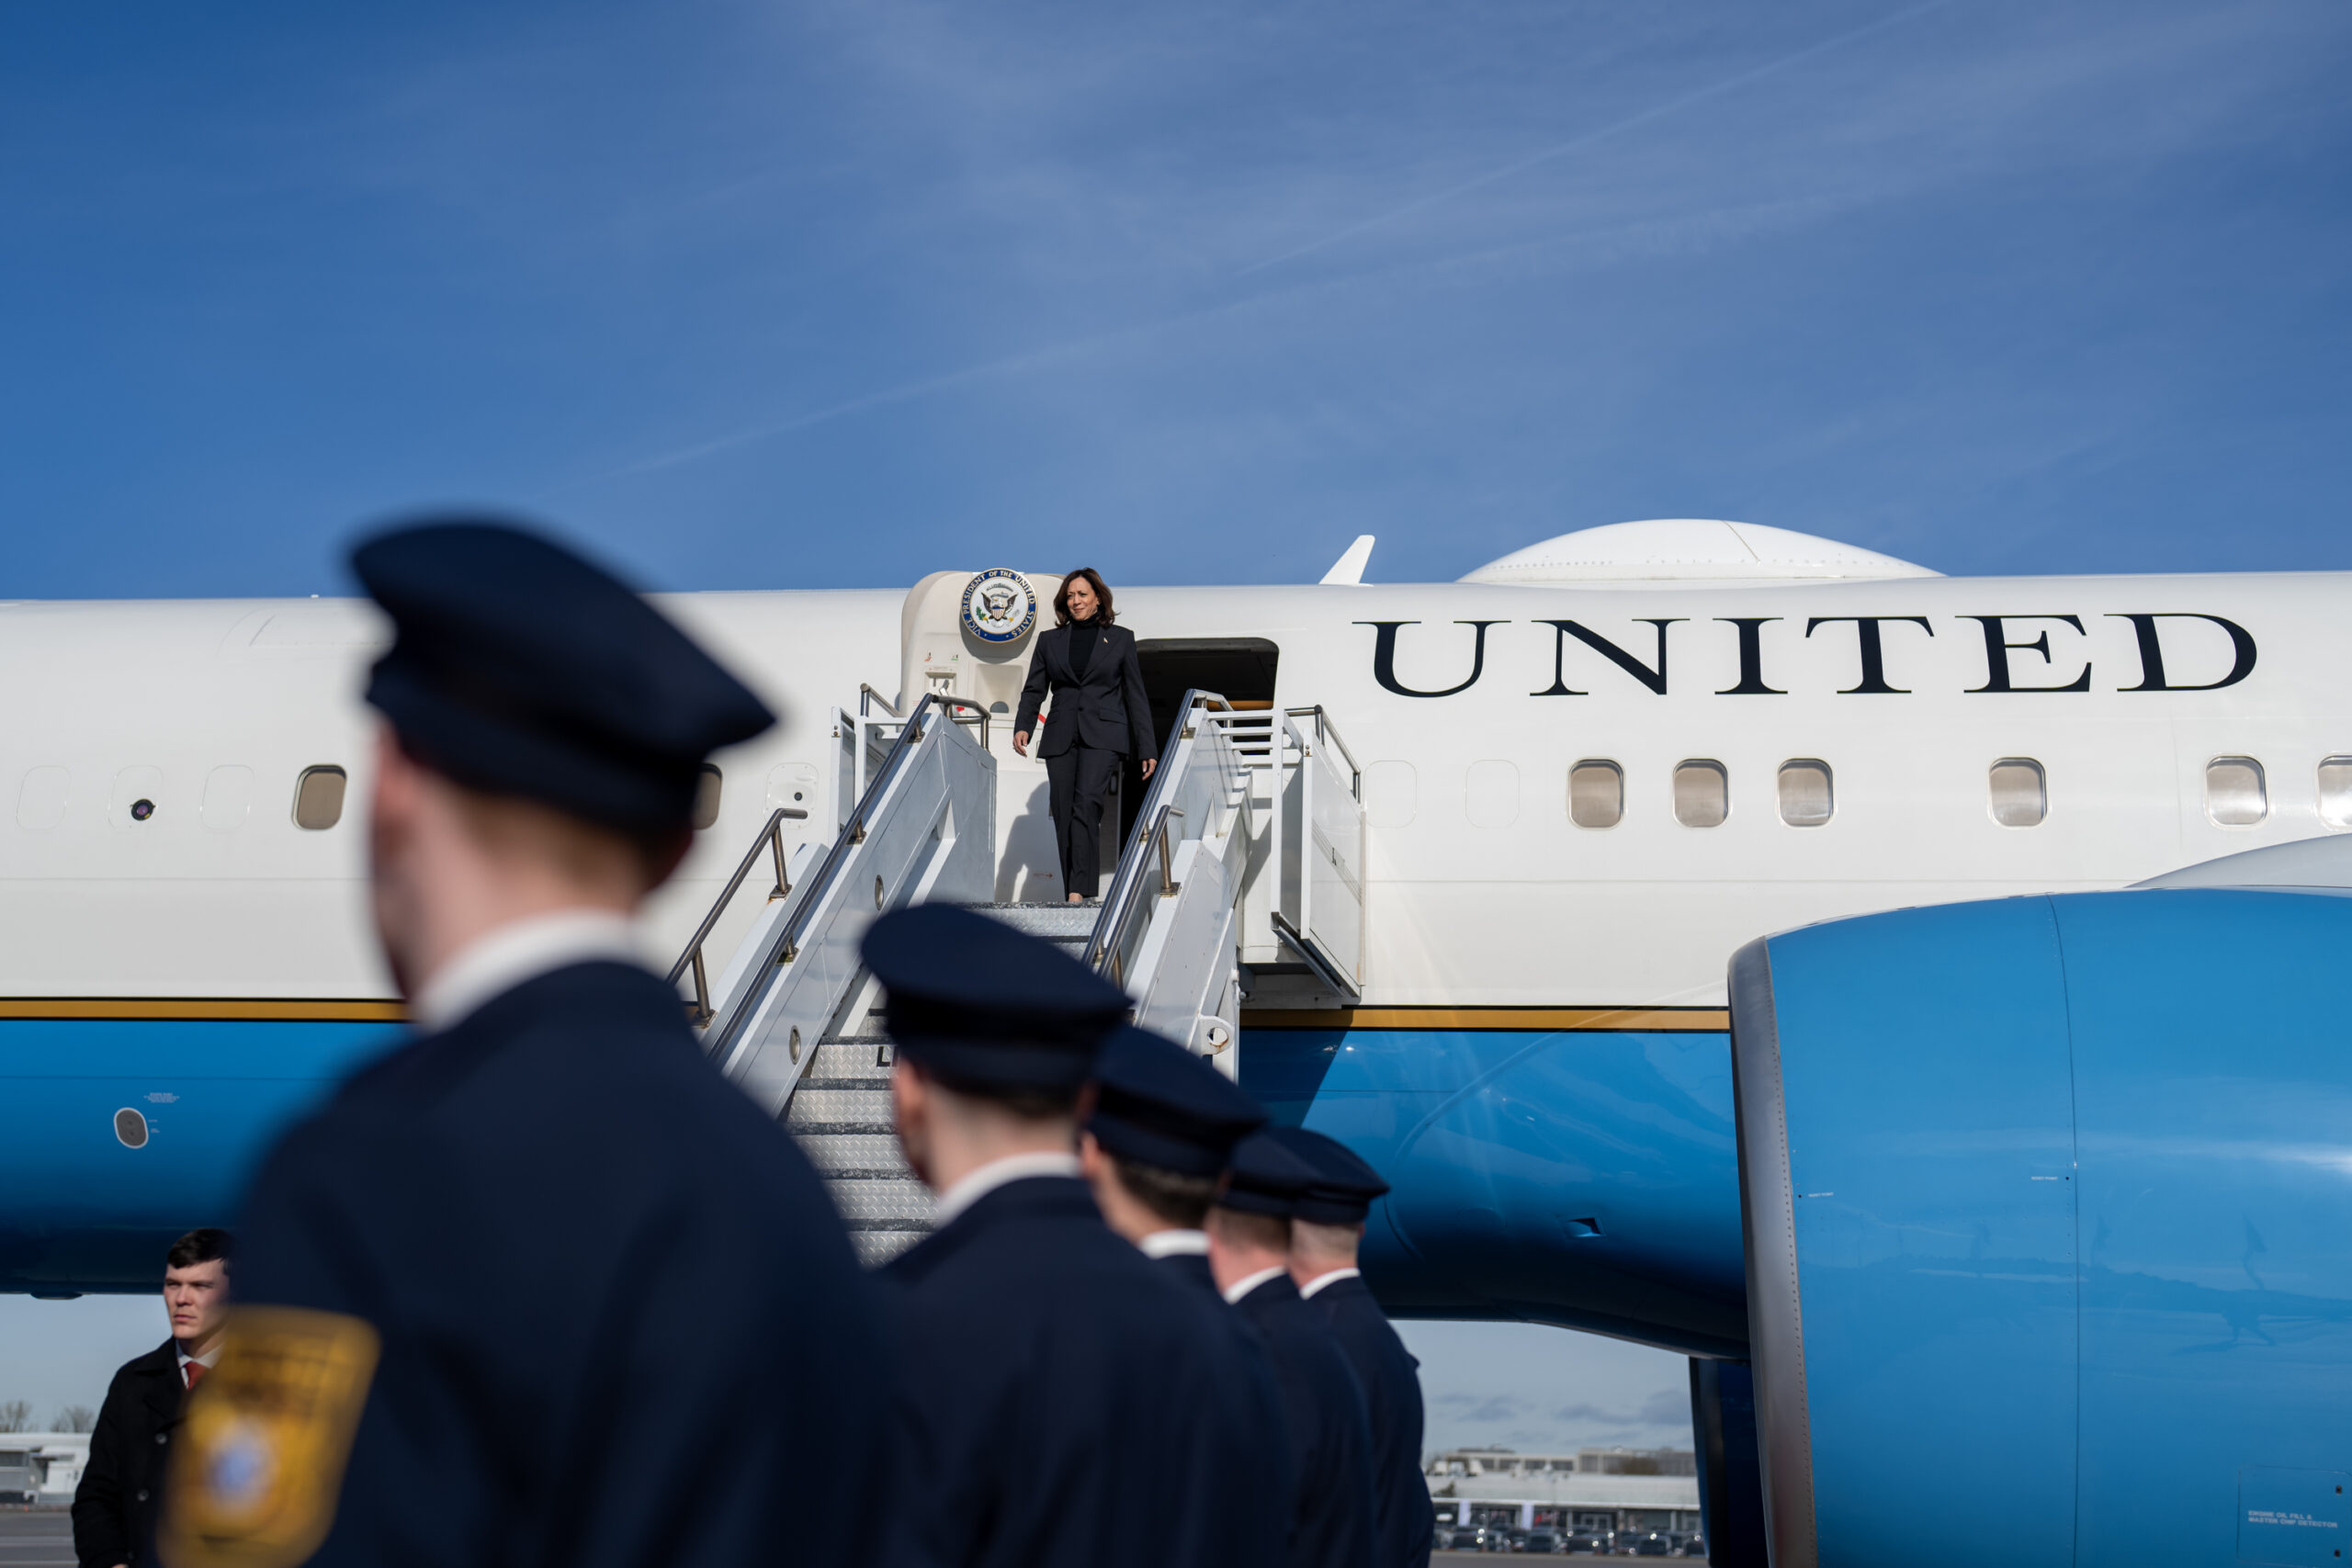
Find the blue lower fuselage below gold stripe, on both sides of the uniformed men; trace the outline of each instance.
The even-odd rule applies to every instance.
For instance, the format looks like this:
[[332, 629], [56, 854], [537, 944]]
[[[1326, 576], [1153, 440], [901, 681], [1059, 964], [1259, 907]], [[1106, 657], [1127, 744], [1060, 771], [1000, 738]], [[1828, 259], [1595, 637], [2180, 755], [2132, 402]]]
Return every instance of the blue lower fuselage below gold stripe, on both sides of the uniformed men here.
[[[0, 1023], [0, 1291], [153, 1288], [172, 1237], [230, 1222], [275, 1138], [397, 1039], [383, 1023]], [[1395, 1182], [1364, 1248], [1392, 1312], [1743, 1354], [1722, 1034], [1249, 1030], [1242, 1081]], [[115, 1138], [125, 1107], [146, 1147]]]

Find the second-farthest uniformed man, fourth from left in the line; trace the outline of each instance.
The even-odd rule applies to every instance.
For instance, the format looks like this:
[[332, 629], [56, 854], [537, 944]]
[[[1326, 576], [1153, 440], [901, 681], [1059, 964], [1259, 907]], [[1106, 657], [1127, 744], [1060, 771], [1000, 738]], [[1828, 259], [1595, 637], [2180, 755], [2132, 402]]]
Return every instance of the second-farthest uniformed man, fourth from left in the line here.
[[1294, 1568], [1364, 1568], [1374, 1561], [1371, 1425], [1364, 1389], [1322, 1316], [1291, 1284], [1291, 1215], [1315, 1168], [1270, 1133], [1232, 1150], [1209, 1208], [1209, 1267], [1275, 1356], [1291, 1434]]

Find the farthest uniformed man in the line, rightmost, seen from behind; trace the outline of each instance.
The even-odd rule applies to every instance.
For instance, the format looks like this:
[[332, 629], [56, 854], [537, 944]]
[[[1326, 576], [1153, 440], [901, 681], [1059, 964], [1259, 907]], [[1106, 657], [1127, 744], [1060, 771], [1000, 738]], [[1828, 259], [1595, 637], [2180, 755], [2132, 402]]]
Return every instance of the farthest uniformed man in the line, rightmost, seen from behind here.
[[1272, 1133], [1315, 1166], [1315, 1185], [1291, 1213], [1291, 1281], [1322, 1314], [1364, 1387], [1371, 1415], [1374, 1563], [1423, 1568], [1430, 1561], [1430, 1483], [1421, 1474], [1421, 1363], [1388, 1326], [1355, 1267], [1364, 1215], [1388, 1182], [1338, 1138], [1287, 1126]]

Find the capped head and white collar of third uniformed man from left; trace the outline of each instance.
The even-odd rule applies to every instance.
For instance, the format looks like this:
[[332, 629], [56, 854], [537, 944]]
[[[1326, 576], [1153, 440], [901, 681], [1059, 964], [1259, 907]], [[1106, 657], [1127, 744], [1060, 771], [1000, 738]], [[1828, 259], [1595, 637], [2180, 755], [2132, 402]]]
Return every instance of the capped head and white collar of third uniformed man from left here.
[[1174, 1039], [1122, 1027], [1094, 1065], [1077, 1157], [1103, 1220], [1152, 1262], [1216, 1293], [1202, 1222], [1225, 1161], [1265, 1110]]

